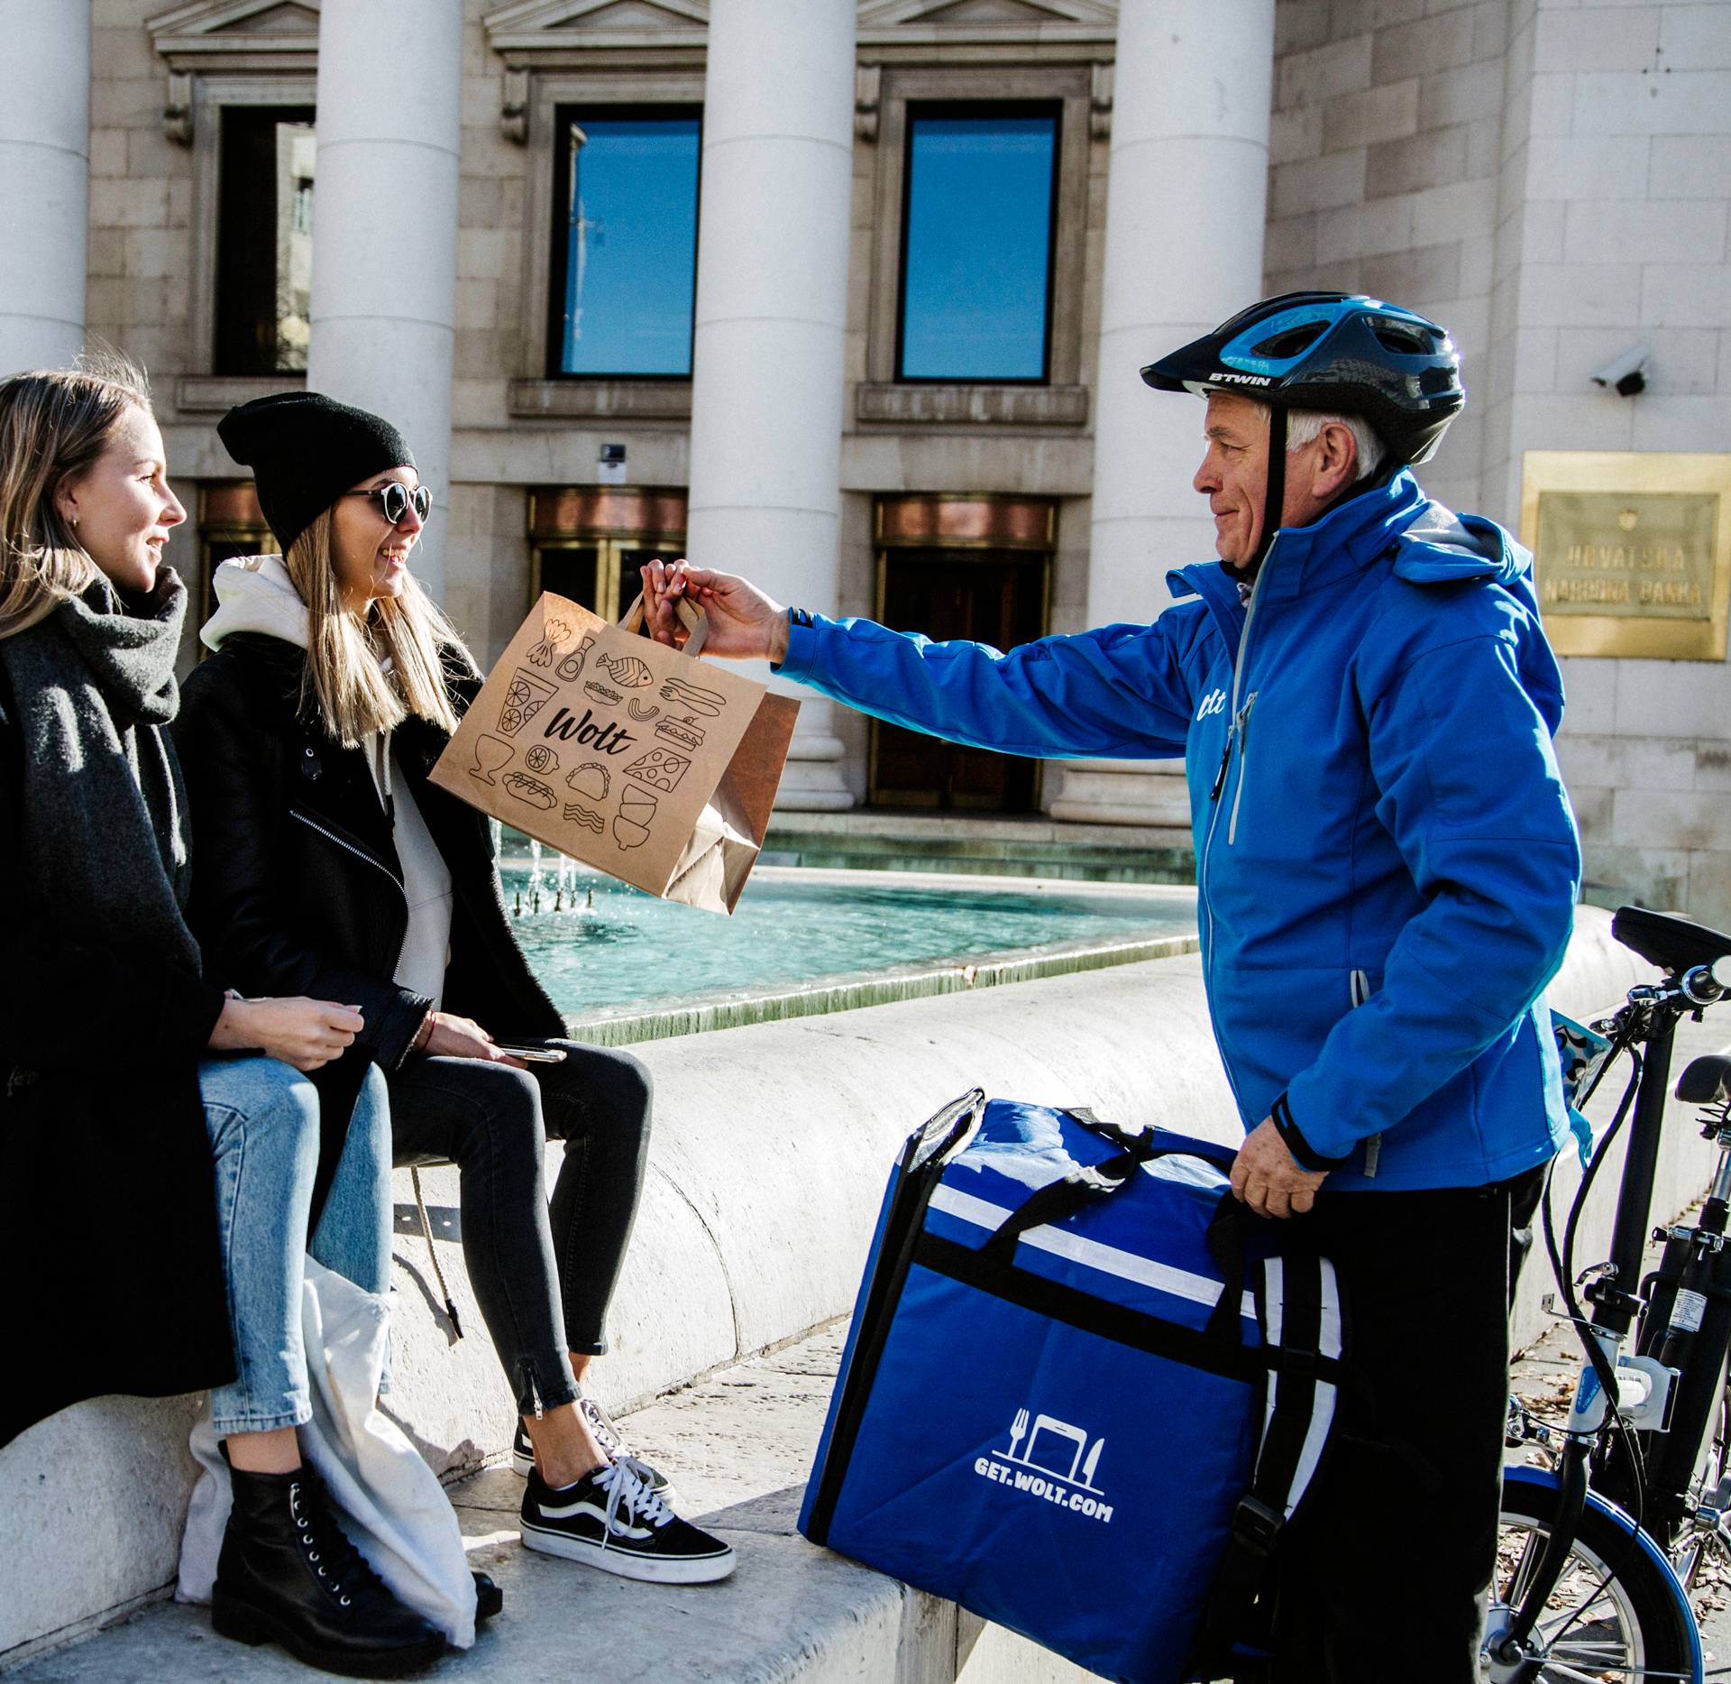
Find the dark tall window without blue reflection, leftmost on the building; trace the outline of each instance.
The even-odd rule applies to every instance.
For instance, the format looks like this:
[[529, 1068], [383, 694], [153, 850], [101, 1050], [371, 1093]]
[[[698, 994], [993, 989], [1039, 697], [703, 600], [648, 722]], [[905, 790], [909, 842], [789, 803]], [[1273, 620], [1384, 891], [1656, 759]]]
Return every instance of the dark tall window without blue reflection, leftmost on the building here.
[[216, 374], [306, 367], [313, 288], [312, 106], [223, 106]]

